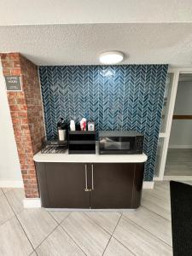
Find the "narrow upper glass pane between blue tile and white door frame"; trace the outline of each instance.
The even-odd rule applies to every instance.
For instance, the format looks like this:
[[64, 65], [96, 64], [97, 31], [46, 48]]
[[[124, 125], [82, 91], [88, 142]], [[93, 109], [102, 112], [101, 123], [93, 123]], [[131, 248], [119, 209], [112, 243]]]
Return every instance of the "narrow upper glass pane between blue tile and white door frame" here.
[[173, 73], [168, 73], [167, 79], [166, 79], [166, 90], [164, 95], [164, 106], [162, 110], [162, 117], [161, 117], [161, 123], [160, 123], [160, 132], [166, 132], [166, 120], [167, 120], [170, 95], [172, 92], [172, 80], [173, 80]]

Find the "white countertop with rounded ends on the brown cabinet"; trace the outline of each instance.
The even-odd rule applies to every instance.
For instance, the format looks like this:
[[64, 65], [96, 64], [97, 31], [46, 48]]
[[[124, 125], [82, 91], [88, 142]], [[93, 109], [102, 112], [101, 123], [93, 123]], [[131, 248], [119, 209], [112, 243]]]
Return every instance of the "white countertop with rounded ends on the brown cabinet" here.
[[33, 157], [36, 162], [55, 163], [143, 163], [148, 159], [146, 154], [42, 154], [38, 152]]

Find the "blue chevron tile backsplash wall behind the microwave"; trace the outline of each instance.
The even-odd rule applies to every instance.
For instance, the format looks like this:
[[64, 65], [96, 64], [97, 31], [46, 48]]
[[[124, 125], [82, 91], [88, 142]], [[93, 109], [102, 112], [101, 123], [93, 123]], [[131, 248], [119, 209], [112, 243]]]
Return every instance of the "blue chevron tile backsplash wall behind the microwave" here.
[[39, 67], [47, 136], [60, 117], [83, 117], [98, 130], [142, 132], [148, 155], [144, 179], [153, 180], [167, 65]]

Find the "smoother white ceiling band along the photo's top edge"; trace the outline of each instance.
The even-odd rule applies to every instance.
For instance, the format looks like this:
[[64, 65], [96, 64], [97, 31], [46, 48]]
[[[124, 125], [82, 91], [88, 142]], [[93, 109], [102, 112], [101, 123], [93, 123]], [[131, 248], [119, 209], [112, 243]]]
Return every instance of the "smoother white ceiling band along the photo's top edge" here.
[[192, 21], [191, 0], [1, 0], [0, 25]]

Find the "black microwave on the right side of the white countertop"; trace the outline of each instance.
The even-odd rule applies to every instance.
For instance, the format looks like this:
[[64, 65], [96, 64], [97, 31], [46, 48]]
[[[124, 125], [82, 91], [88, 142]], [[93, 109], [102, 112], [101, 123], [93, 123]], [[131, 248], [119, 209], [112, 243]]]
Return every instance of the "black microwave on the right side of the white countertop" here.
[[99, 131], [99, 154], [143, 154], [143, 141], [137, 131]]

